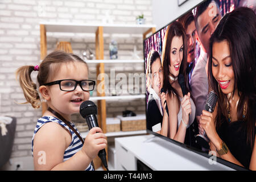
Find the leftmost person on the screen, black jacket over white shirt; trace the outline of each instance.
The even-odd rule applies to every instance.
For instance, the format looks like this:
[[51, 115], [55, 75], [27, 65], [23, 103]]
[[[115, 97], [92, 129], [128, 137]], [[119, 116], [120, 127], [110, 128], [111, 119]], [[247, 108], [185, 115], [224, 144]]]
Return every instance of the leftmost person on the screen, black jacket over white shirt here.
[[147, 89], [150, 95], [147, 103], [147, 129], [167, 137], [168, 115], [166, 95], [160, 93], [163, 87], [163, 68], [158, 51], [151, 51], [147, 59]]

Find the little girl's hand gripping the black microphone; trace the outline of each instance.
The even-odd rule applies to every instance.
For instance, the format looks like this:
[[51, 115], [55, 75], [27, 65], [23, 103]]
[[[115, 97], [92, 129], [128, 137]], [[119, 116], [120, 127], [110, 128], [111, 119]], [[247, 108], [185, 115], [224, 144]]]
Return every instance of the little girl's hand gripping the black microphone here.
[[85, 138], [82, 151], [90, 159], [94, 159], [97, 156], [98, 151], [104, 149], [107, 143], [106, 136], [102, 133], [101, 128], [93, 127]]

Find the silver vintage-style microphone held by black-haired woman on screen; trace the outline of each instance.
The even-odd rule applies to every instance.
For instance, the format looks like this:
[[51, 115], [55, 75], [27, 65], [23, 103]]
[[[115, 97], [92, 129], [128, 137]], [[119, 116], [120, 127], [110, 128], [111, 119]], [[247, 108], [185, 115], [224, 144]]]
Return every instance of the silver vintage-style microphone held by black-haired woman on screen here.
[[[217, 100], [218, 100], [217, 94], [213, 91], [210, 91], [210, 93], [207, 96], [207, 102], [205, 103], [205, 110], [207, 110], [210, 113], [213, 113]], [[196, 135], [196, 140], [202, 147], [207, 149], [210, 148], [209, 139], [205, 134], [205, 131], [203, 135], [201, 134]]]

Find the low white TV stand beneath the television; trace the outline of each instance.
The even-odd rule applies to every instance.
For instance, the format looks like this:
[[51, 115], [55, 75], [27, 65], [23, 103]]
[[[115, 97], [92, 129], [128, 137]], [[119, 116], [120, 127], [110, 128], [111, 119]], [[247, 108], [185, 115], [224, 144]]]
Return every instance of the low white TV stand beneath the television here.
[[[153, 138], [152, 138], [153, 137]], [[146, 142], [145, 142], [146, 141]], [[115, 138], [116, 170], [137, 170], [140, 160], [152, 170], [234, 170], [154, 135]]]

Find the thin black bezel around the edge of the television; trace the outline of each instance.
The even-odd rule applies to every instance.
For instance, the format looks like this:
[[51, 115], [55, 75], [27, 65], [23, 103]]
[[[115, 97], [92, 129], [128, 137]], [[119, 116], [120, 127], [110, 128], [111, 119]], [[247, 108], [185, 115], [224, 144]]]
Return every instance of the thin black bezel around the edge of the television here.
[[[154, 34], [151, 34], [150, 36], [154, 36], [157, 32], [161, 31], [163, 28], [167, 27], [172, 22], [175, 22], [177, 19], [181, 18], [181, 16], [183, 16], [186, 13], [188, 13], [189, 11], [192, 11], [193, 9], [195, 9], [197, 6], [199, 6], [201, 3], [205, 2], [205, 1], [207, 1], [207, 0], [204, 0], [204, 1], [200, 2], [200, 3], [198, 3], [196, 6], [193, 6], [191, 9], [187, 10], [185, 13], [183, 13], [180, 16], [178, 16], [176, 19], [172, 20], [170, 23], [166, 24], [166, 26], [163, 26], [162, 28], [160, 28], [158, 31], [155, 31]], [[150, 38], [150, 36], [147, 36], [145, 39], [143, 39], [144, 73], [146, 73], [146, 67], [145, 67], [145, 65], [146, 65], [146, 60], [145, 60], [145, 44], [144, 43], [145, 43], [146, 39]], [[146, 118], [147, 118], [147, 93], [145, 93], [145, 103], [146, 103], [145, 107], [146, 107]], [[146, 119], [146, 121], [147, 121], [147, 119]], [[209, 159], [211, 157], [211, 155], [208, 155], [207, 153], [205, 153], [203, 151], [200, 151], [200, 150], [198, 150], [195, 147], [192, 147], [192, 146], [189, 146], [187, 144], [178, 142], [178, 141], [176, 141], [174, 139], [171, 139], [171, 138], [168, 138], [168, 137], [164, 137], [163, 135], [160, 135], [160, 134], [155, 133], [154, 131], [151, 131], [151, 130], [148, 130], [148, 129], [146, 129], [146, 131], [147, 131], [148, 134], [152, 134], [152, 135], [155, 135], [156, 137], [163, 138], [164, 140], [167, 140], [168, 142], [177, 144], [178, 146], [183, 147], [183, 148], [185, 148], [185, 149], [187, 149], [189, 151], [195, 152], [196, 154], [202, 155], [205, 158]], [[249, 169], [246, 169], [246, 168], [244, 168], [242, 166], [239, 166], [237, 164], [229, 162], [228, 160], [221, 159], [219, 157], [216, 157], [216, 161], [217, 161], [217, 163], [224, 164], [225, 166], [228, 166], [228, 167], [230, 167], [232, 169], [235, 169], [235, 170], [238, 170], [238, 171], [249, 171]]]

